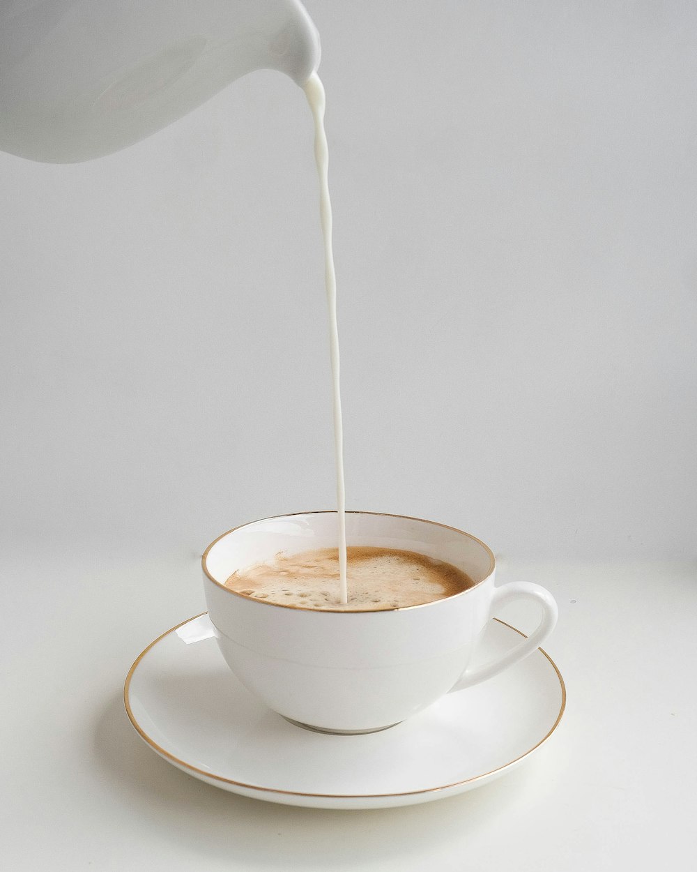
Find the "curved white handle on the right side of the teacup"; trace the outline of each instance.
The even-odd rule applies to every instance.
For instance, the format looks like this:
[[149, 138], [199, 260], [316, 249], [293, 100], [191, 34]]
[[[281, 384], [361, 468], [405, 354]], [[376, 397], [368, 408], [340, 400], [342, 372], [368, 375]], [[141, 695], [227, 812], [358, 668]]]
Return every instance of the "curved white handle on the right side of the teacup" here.
[[490, 614], [498, 607], [520, 599], [531, 599], [541, 606], [542, 617], [537, 628], [529, 637], [511, 648], [511, 651], [506, 651], [501, 657], [497, 657], [495, 660], [484, 664], [484, 666], [477, 667], [477, 669], [466, 669], [450, 688], [449, 693], [461, 691], [465, 687], [478, 685], [480, 681], [486, 681], [487, 678], [493, 678], [499, 672], [503, 672], [504, 669], [507, 669], [514, 663], [518, 663], [518, 660], [522, 660], [523, 657], [527, 657], [528, 654], [535, 651], [545, 641], [546, 637], [550, 635], [554, 625], [557, 623], [557, 603], [554, 602], [554, 597], [549, 590], [545, 590], [539, 584], [509, 582], [500, 588], [495, 588], [491, 599]]

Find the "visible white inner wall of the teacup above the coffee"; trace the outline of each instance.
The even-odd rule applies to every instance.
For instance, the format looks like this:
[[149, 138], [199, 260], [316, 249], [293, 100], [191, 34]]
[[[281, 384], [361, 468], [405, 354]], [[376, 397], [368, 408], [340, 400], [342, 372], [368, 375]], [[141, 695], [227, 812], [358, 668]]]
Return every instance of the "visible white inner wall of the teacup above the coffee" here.
[[[491, 576], [495, 567], [491, 549], [475, 536], [420, 518], [347, 512], [346, 540], [349, 545], [417, 551], [462, 569], [475, 583]], [[279, 552], [293, 555], [314, 548], [335, 548], [336, 542], [336, 512], [265, 518], [219, 536], [206, 548], [203, 569], [213, 582], [225, 584], [235, 570], [267, 561]]]

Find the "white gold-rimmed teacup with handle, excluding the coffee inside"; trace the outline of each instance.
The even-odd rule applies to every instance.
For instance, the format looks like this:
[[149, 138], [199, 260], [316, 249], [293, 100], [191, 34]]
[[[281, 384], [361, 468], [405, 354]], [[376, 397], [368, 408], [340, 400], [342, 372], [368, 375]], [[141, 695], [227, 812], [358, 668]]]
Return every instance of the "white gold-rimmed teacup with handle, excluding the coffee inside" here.
[[[266, 518], [219, 536], [203, 555], [203, 574], [220, 651], [249, 691], [300, 726], [349, 734], [394, 726], [444, 694], [503, 671], [554, 628], [552, 595], [527, 582], [495, 587], [491, 549], [462, 530], [402, 515], [347, 512], [346, 532], [349, 545], [417, 551], [463, 569], [475, 584], [431, 603], [380, 611], [267, 603], [226, 588], [227, 578], [279, 552], [335, 547], [336, 513]], [[490, 618], [519, 598], [540, 606], [538, 628], [503, 657], [468, 670]]]

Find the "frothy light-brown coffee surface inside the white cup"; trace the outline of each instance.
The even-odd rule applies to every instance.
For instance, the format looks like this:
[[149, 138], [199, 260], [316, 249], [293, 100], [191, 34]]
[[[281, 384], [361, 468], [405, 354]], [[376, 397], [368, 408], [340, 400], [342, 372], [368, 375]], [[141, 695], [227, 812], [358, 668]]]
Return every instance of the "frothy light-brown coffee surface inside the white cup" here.
[[338, 548], [301, 554], [282, 552], [270, 561], [238, 569], [226, 587], [244, 596], [303, 609], [379, 611], [431, 603], [474, 584], [461, 569], [396, 548], [350, 546], [349, 602], [339, 595]]

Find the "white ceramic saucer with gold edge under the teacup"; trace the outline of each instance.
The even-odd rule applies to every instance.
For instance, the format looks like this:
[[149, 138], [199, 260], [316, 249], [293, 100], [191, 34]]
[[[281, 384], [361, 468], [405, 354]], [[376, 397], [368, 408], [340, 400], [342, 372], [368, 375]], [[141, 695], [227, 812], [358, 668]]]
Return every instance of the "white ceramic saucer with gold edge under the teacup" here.
[[[491, 621], [477, 659], [523, 635]], [[215, 787], [321, 808], [380, 808], [459, 794], [508, 772], [557, 727], [564, 681], [544, 651], [383, 732], [332, 736], [289, 724], [229, 671], [207, 614], [168, 630], [132, 665], [132, 725], [161, 757]]]

